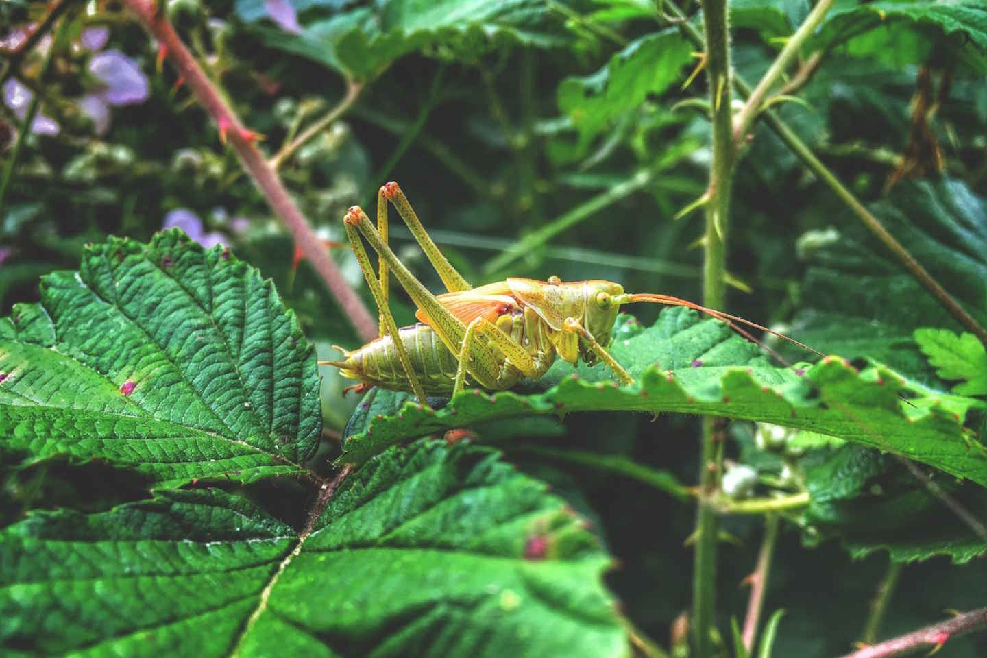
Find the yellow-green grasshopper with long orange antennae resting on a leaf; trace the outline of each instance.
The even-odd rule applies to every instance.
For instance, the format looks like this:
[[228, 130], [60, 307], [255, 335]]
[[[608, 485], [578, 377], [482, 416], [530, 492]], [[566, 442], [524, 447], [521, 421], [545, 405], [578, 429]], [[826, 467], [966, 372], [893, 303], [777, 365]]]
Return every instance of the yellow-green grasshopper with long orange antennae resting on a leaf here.
[[[446, 293], [430, 293], [391, 251], [387, 240], [389, 204], [408, 225]], [[602, 361], [621, 382], [632, 384], [634, 378], [607, 352], [606, 345], [620, 307], [633, 302], [685, 306], [725, 322], [758, 344], [736, 323], [815, 352], [742, 318], [668, 295], [628, 294], [611, 281], [564, 283], [558, 276], [547, 281], [510, 277], [473, 288], [432, 242], [398, 183], [387, 183], [378, 191], [376, 227], [359, 206], [346, 211], [343, 225], [380, 312], [380, 337], [358, 349], [342, 350], [342, 361], [320, 362], [336, 366], [344, 377], [360, 382], [347, 390], [362, 392], [379, 386], [409, 391], [418, 402], [427, 404], [426, 394], [454, 396], [467, 386], [503, 391], [524, 377], [537, 380], [557, 356], [573, 364], [580, 359], [589, 365]], [[364, 239], [378, 255], [377, 273], [363, 247]], [[416, 325], [399, 329], [394, 322], [388, 308], [392, 271], [418, 308], [420, 322]]]

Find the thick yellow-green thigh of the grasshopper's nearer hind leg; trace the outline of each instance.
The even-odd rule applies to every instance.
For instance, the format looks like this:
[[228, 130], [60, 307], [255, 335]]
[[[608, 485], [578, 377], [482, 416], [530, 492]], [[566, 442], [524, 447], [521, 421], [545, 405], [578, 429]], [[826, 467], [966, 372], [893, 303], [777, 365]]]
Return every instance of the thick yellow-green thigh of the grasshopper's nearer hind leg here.
[[[441, 302], [435, 299], [435, 296], [428, 292], [428, 289], [415, 278], [415, 275], [409, 271], [408, 267], [405, 266], [398, 256], [395, 256], [391, 248], [388, 247], [387, 243], [381, 240], [380, 234], [374, 229], [373, 225], [370, 223], [370, 219], [366, 216], [366, 213], [360, 209], [359, 206], [351, 207], [347, 212], [343, 221], [346, 223], [346, 233], [347, 235], [352, 235], [359, 242], [358, 235], [350, 234], [350, 231], [358, 230], [360, 234], [366, 239], [370, 246], [373, 247], [374, 251], [384, 259], [387, 263], [388, 268], [394, 272], [395, 278], [401, 283], [402, 287], [408, 292], [408, 295], [415, 302], [415, 305], [420, 309], [429, 320], [429, 326], [434, 329], [435, 333], [438, 334], [439, 338], [442, 340], [443, 344], [451, 351], [453, 354], [458, 354], [462, 345], [463, 339], [466, 336], [466, 325], [456, 316], [452, 315], [448, 309], [442, 306]], [[353, 237], [350, 238], [352, 241]], [[362, 249], [362, 243], [360, 243], [360, 248]], [[353, 251], [356, 251], [354, 246]], [[365, 252], [364, 252], [365, 255]], [[369, 259], [367, 260], [369, 263]], [[377, 284], [376, 279], [374, 280], [374, 285]], [[390, 315], [390, 312], [388, 312]], [[393, 322], [393, 320], [392, 320]], [[474, 365], [480, 364], [483, 371], [474, 372], [471, 370], [471, 374], [476, 377], [476, 379], [481, 383], [490, 383], [496, 380], [497, 369], [490, 364], [495, 364], [495, 357], [493, 351], [486, 345], [472, 345], [471, 349], [480, 352], [481, 357], [474, 360]], [[485, 384], [486, 386], [486, 384]]]

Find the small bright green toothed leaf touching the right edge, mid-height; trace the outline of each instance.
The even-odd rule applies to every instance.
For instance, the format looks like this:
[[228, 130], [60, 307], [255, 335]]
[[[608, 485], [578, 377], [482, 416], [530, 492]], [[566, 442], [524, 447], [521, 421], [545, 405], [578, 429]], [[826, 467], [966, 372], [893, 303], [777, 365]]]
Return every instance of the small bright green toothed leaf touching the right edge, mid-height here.
[[947, 381], [964, 380], [952, 387], [961, 396], [987, 395], [987, 352], [972, 333], [956, 335], [947, 329], [915, 329], [915, 342], [936, 374]]

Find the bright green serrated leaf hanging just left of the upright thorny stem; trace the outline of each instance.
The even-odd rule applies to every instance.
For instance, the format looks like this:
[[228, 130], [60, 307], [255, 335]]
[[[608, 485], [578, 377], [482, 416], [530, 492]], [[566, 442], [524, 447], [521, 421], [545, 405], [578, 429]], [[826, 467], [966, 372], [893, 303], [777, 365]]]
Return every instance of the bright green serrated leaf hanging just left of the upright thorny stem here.
[[559, 108], [589, 140], [620, 114], [637, 109], [679, 79], [692, 48], [677, 30], [641, 37], [596, 73], [569, 77], [559, 85]]

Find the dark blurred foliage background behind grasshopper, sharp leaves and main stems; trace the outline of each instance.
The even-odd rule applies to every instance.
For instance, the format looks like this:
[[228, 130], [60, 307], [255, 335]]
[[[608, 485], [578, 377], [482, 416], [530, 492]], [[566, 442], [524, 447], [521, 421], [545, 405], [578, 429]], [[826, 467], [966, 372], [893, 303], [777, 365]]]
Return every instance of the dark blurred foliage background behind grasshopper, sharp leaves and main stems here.
[[[977, 5], [838, 2], [787, 78], [797, 100], [775, 109], [982, 322], [987, 18]], [[701, 24], [694, 3], [681, 9]], [[805, 0], [732, 2], [736, 72], [759, 79], [809, 9]], [[8, 61], [46, 11], [24, 0], [0, 6]], [[706, 188], [707, 90], [704, 76], [690, 78], [696, 48], [660, 2], [170, 0], [162, 11], [245, 123], [264, 135], [270, 155], [347, 90], [356, 94], [342, 118], [283, 159], [279, 171], [368, 304], [359, 269], [340, 243], [340, 219], [354, 203], [372, 207], [379, 185], [392, 179], [476, 284], [556, 274], [701, 298], [701, 213], [675, 215]], [[26, 136], [3, 199], [4, 313], [38, 298], [40, 274], [74, 268], [87, 242], [108, 234], [146, 241], [180, 226], [203, 244], [230, 245], [272, 277], [320, 355], [334, 343], [357, 345], [315, 272], [305, 262], [295, 272], [290, 237], [175, 71], [156, 63], [155, 44], [139, 25], [105, 0], [75, 3], [67, 15], [71, 46], [43, 79], [44, 43], [4, 77], [5, 170], [33, 95], [40, 94], [46, 121], [36, 119]], [[735, 286], [724, 310], [785, 328], [817, 349], [870, 356], [946, 386], [913, 330], [958, 326], [765, 125], [737, 168], [732, 216], [727, 268]], [[392, 240], [438, 290], [404, 227], [394, 225]], [[399, 324], [411, 322], [407, 298], [393, 297]], [[650, 323], [657, 309], [635, 313]], [[339, 433], [353, 402], [341, 402], [341, 381], [329, 370], [324, 375], [327, 427]], [[691, 599], [686, 539], [694, 506], [633, 478], [525, 447], [627, 458], [692, 482], [697, 428], [687, 416], [580, 414], [562, 427], [549, 423], [542, 436], [502, 445], [595, 519], [619, 562], [608, 584], [626, 615], [663, 645]], [[757, 462], [752, 436], [736, 424], [731, 459]], [[330, 441], [321, 459], [333, 450]], [[801, 517], [800, 530], [782, 528], [766, 603], [769, 611], [787, 611], [776, 655], [848, 650], [863, 637], [888, 573], [888, 552], [879, 548], [955, 522], [900, 464], [855, 447], [821, 450], [817, 459], [832, 469], [842, 460], [837, 479], [855, 485], [842, 499], [833, 494], [828, 516]], [[37, 506], [101, 506], [139, 495], [139, 483], [123, 480], [89, 488], [103, 479], [100, 469], [55, 464], [6, 475], [4, 521]], [[980, 491], [957, 495], [984, 503]], [[747, 593], [740, 584], [753, 568], [762, 525], [756, 517], [723, 522], [724, 631], [730, 617], [742, 618]], [[921, 561], [898, 574], [881, 636], [982, 602], [976, 584], [987, 577], [983, 559], [953, 564], [936, 552], [910, 555]], [[973, 636], [941, 655], [985, 652], [983, 637]]]

